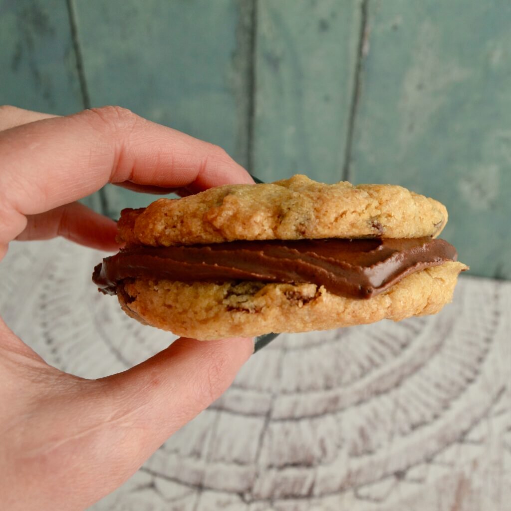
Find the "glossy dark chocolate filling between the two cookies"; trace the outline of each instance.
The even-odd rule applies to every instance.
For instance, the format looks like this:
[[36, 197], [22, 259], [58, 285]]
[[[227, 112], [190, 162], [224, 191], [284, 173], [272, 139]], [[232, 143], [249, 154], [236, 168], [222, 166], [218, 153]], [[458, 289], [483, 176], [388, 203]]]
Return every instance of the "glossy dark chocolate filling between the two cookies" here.
[[456, 259], [452, 245], [432, 238], [144, 245], [105, 258], [94, 269], [92, 280], [105, 294], [115, 294], [125, 279], [143, 278], [313, 283], [333, 294], [370, 298], [410, 273]]

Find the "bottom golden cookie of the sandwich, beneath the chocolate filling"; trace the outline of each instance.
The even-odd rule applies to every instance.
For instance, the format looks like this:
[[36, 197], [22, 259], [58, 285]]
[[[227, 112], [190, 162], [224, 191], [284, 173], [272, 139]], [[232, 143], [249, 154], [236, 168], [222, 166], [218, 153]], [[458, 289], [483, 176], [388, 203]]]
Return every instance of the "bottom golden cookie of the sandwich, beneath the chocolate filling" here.
[[201, 340], [308, 332], [437, 313], [452, 300], [462, 263], [412, 273], [388, 291], [363, 300], [315, 284], [125, 282], [118, 297], [138, 321]]

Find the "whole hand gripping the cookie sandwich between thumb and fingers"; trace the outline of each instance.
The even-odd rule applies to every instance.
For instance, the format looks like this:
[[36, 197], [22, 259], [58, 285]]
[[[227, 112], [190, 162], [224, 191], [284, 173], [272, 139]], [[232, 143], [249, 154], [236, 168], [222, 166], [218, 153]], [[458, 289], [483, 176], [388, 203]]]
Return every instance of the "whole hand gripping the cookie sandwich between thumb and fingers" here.
[[[0, 259], [14, 239], [117, 249], [115, 223], [74, 202], [107, 182], [190, 193], [252, 180], [220, 148], [122, 108], [52, 117], [3, 107]], [[179, 339], [124, 373], [85, 380], [49, 366], [0, 319], [0, 507], [99, 500], [217, 399], [252, 350], [250, 339]]]

